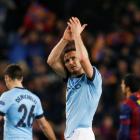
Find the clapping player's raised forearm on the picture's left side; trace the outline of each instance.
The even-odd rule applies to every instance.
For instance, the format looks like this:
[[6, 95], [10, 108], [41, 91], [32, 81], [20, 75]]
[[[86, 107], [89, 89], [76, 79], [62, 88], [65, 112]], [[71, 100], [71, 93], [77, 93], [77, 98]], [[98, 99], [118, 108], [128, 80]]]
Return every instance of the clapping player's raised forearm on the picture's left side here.
[[51, 64], [55, 64], [56, 62], [59, 62], [61, 53], [67, 44], [68, 41], [62, 38], [51, 51], [47, 63], [51, 65]]

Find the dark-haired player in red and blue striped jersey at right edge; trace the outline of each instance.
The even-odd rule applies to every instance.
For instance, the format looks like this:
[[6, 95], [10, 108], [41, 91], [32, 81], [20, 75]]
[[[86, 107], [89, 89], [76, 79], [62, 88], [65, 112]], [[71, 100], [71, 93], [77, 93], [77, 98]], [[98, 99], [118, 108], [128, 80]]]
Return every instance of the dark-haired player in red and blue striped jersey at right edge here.
[[121, 87], [126, 99], [120, 108], [118, 140], [140, 140], [140, 79], [128, 74]]

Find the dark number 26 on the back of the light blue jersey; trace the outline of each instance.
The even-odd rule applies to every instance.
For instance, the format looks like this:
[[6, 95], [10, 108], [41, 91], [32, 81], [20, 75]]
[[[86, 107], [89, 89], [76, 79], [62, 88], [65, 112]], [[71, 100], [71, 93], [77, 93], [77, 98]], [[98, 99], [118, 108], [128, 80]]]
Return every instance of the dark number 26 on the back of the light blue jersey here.
[[[34, 115], [34, 108], [35, 106], [32, 105], [30, 112], [28, 114], [28, 110], [25, 104], [21, 104], [18, 112], [23, 112], [22, 118], [19, 120], [19, 122], [17, 123], [16, 127], [31, 127], [33, 124], [33, 119], [35, 117]], [[25, 119], [27, 118], [27, 122], [25, 122]]]

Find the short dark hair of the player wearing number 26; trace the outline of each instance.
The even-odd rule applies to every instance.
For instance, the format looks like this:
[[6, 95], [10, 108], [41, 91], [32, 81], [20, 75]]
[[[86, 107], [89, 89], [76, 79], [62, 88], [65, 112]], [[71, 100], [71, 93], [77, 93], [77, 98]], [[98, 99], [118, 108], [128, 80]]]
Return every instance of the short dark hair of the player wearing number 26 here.
[[14, 79], [20, 80], [23, 77], [23, 72], [19, 65], [10, 64], [6, 67], [4, 75], [8, 75], [12, 80]]

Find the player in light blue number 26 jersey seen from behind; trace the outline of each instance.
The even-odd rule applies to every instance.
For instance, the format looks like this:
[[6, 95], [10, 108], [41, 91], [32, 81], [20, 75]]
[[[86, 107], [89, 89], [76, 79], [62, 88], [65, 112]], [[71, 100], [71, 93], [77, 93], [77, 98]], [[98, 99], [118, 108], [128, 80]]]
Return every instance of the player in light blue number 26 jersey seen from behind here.
[[9, 65], [4, 74], [9, 91], [0, 97], [0, 120], [5, 118], [4, 140], [32, 140], [32, 124], [36, 119], [49, 140], [56, 140], [50, 124], [43, 116], [39, 98], [22, 85], [19, 65]]

